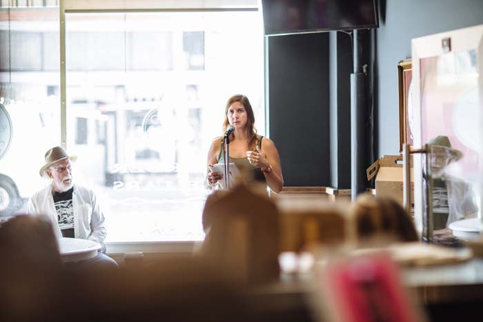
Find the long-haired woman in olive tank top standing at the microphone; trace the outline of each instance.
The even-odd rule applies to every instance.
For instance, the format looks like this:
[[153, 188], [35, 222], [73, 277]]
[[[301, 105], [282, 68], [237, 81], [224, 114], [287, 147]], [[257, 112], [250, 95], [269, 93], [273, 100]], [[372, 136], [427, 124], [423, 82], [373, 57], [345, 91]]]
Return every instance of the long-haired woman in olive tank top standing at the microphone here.
[[[264, 181], [273, 192], [284, 186], [280, 157], [272, 140], [257, 134], [255, 116], [248, 97], [233, 95], [226, 102], [223, 132], [230, 135], [230, 163], [235, 163], [245, 182]], [[229, 128], [233, 126], [232, 128]], [[232, 131], [233, 130], [233, 131]], [[208, 174], [206, 182], [211, 187], [223, 178], [220, 172], [212, 172], [215, 163], [224, 163], [223, 137], [217, 137], [208, 151]]]

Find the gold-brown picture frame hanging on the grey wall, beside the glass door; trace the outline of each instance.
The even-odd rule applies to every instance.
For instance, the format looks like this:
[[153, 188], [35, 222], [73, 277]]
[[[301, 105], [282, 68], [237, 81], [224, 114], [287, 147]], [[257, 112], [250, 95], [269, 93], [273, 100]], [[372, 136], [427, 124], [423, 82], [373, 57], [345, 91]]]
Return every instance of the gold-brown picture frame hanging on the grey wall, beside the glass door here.
[[413, 64], [411, 59], [397, 63], [397, 87], [399, 91], [399, 150], [402, 145], [413, 145], [413, 103], [411, 81], [413, 79]]

